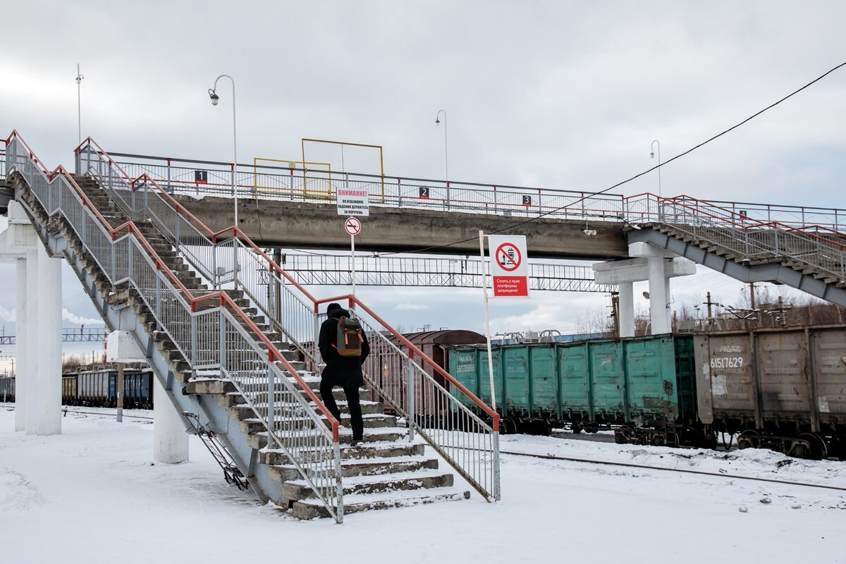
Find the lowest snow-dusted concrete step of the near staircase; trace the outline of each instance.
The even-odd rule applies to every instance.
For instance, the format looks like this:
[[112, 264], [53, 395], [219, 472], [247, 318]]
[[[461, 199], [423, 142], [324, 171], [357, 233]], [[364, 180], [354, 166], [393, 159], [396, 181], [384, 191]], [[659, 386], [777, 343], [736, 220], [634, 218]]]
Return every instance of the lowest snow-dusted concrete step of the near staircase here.
[[[382, 494], [352, 494], [343, 496], [343, 514], [350, 515], [361, 511], [376, 509], [390, 509], [392, 507], [411, 507], [438, 503], [440, 501], [461, 501], [470, 499], [470, 491], [454, 487], [431, 488], [429, 490], [392, 491]], [[329, 512], [320, 501], [294, 501], [292, 508], [294, 517], [299, 519], [313, 519], [315, 517], [330, 517]]]

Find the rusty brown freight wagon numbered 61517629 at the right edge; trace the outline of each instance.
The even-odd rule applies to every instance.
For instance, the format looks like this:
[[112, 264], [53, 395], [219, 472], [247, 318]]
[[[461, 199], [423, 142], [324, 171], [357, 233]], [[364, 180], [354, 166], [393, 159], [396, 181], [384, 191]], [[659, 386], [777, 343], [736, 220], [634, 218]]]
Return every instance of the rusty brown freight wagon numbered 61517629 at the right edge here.
[[741, 448], [846, 457], [846, 326], [695, 336], [700, 421]]

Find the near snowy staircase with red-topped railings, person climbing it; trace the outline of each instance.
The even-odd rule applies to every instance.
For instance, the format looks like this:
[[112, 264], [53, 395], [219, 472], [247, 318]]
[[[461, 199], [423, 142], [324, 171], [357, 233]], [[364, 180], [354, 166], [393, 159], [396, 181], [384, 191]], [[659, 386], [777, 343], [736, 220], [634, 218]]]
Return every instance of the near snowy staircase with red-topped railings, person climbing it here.
[[[451, 376], [427, 379], [411, 360], [431, 359], [398, 347], [378, 332], [385, 328], [377, 320], [365, 320], [375, 348], [403, 359], [393, 381], [439, 394], [449, 419], [460, 413], [463, 426], [460, 433], [424, 427], [415, 393], [392, 398], [374, 386], [395, 415], [381, 414], [382, 402], [365, 402], [367, 446], [344, 446], [350, 435], [312, 389], [319, 378], [300, 374], [304, 363], [294, 361], [319, 362], [313, 336], [320, 302], [297, 295], [304, 291], [291, 287], [249, 239], [211, 233], [149, 178], [126, 178], [92, 141], [78, 155], [85, 155], [85, 166], [78, 159], [76, 175], [62, 167], [48, 172], [13, 132], [6, 171], [16, 199], [50, 252], [68, 260], [107, 326], [135, 337], [168, 399], [179, 413], [195, 417], [191, 425], [186, 419], [186, 428], [211, 430], [224, 458], [262, 500], [298, 517], [330, 516], [340, 523], [345, 512], [468, 496], [452, 487], [452, 474], [438, 470], [437, 459], [423, 456], [415, 431], [486, 499], [498, 499], [498, 416], [491, 412], [492, 426], [486, 424], [465, 406], [487, 413], [483, 403], [472, 395], [459, 400], [448, 391], [458, 386]], [[253, 270], [256, 261], [261, 271]], [[228, 282], [236, 289], [221, 290]], [[396, 416], [407, 425], [398, 427]], [[451, 444], [442, 431], [450, 433]]]

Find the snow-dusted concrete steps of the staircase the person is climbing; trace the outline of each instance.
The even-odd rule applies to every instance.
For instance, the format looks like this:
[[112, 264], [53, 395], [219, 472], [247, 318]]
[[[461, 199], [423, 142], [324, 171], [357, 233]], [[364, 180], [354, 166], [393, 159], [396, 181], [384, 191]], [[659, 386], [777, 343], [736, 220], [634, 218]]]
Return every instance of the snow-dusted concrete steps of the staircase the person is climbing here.
[[[112, 195], [107, 194], [91, 178], [77, 177], [76, 181], [85, 192], [86, 198], [91, 201], [91, 205], [102, 214], [111, 227], [118, 227], [129, 220], [118, 202], [113, 201]], [[129, 192], [122, 195], [129, 200]], [[39, 211], [36, 215], [39, 215], [38, 221], [47, 223], [48, 218], [44, 216], [43, 212]], [[151, 221], [136, 217], [135, 225], [151, 245], [151, 248], [156, 251], [162, 265], [172, 271], [179, 282], [189, 288], [191, 293], [199, 296], [216, 291], [207, 287], [201, 281], [195, 269], [190, 267], [189, 263], [179, 255], [178, 249], [173, 248], [168, 238], [159, 233], [157, 227]], [[283, 508], [293, 509], [292, 512], [296, 517], [328, 516], [327, 510], [313, 497], [312, 490], [308, 487], [303, 476], [299, 474], [300, 471], [287, 459], [284, 451], [282, 449], [266, 450], [266, 427], [261, 419], [256, 416], [255, 411], [246, 405], [245, 398], [238, 392], [238, 386], [233, 381], [220, 378], [220, 371], [217, 369], [191, 370], [187, 359], [184, 359], [183, 354], [179, 353], [170, 337], [171, 334], [184, 335], [187, 324], [183, 322], [183, 325], [180, 326], [179, 322], [168, 322], [170, 323], [168, 325], [169, 332], [163, 331], [163, 328], [158, 326], [151, 307], [156, 309], [168, 308], [177, 304], [178, 300], [170, 296], [169, 293], [162, 292], [162, 298], [156, 304], [148, 306], [135, 287], [130, 288], [126, 284], [113, 286], [108, 281], [106, 274], [100, 270], [100, 266], [93, 260], [93, 257], [85, 251], [66, 220], [55, 218], [52, 220], [52, 227], [56, 229], [56, 233], [63, 233], [64, 238], [68, 241], [69, 249], [85, 265], [83, 268], [90, 277], [91, 285], [103, 298], [102, 301], [107, 306], [127, 306], [137, 315], [141, 326], [150, 335], [151, 342], [155, 344], [156, 352], [154, 354], [159, 355], [157, 359], [163, 359], [175, 372], [178, 386], [174, 388], [173, 393], [179, 394], [181, 390], [181, 393], [186, 396], [205, 396], [209, 399], [217, 397], [217, 402], [204, 402], [206, 408], [217, 405], [219, 408], [227, 410], [227, 415], [231, 420], [238, 422], [237, 425], [223, 425], [223, 430], [219, 431], [218, 434], [240, 433], [239, 441], [243, 441], [244, 446], [248, 444], [250, 448], [254, 449], [253, 454], [258, 455], [256, 457], [258, 463], [266, 467], [266, 474], [263, 475], [276, 479], [278, 483], [278, 490], [264, 491], [266, 496], [281, 504]], [[305, 363], [297, 360], [299, 353], [288, 350], [288, 343], [283, 342], [283, 336], [277, 331], [269, 331], [266, 320], [259, 315], [255, 307], [250, 305], [250, 301], [243, 292], [234, 290], [227, 290], [226, 292], [244, 310], [248, 319], [250, 319], [250, 323], [258, 326], [261, 331], [266, 331], [266, 337], [275, 347], [279, 348], [289, 363], [294, 365], [294, 370], [302, 370], [305, 367]], [[201, 302], [198, 305], [199, 310], [217, 307], [214, 300]], [[237, 317], [236, 319], [239, 320], [241, 326], [248, 325], [244, 320]], [[207, 329], [213, 330], [214, 326], [215, 324], [212, 321]], [[206, 331], [201, 326], [198, 332], [204, 334]], [[253, 348], [246, 348], [246, 350], [256, 352]], [[266, 351], [263, 342], [260, 342], [259, 352], [261, 351]], [[260, 378], [263, 377], [266, 386], [266, 369], [263, 372], [255, 371], [250, 367], [249, 362], [244, 364], [244, 369], [241, 372], [233, 374], [233, 377], [238, 375], [246, 375], [248, 379], [255, 375], [256, 381], [260, 381]], [[303, 373], [302, 377], [305, 380], [305, 386], [313, 390], [319, 388], [320, 377], [318, 375]], [[244, 384], [244, 386], [248, 385]], [[280, 413], [285, 413], [282, 399], [284, 397], [289, 399], [290, 392], [282, 392], [281, 382], [277, 386], [279, 386], [279, 391], [275, 394], [278, 400], [277, 405], [282, 408]], [[248, 387], [257, 389], [257, 386], [249, 385]], [[254, 402], [266, 400], [266, 389], [255, 393], [249, 390], [247, 392], [251, 393], [250, 397], [254, 398]], [[461, 500], [470, 496], [469, 491], [453, 486], [453, 474], [439, 469], [438, 459], [427, 457], [424, 445], [420, 441], [409, 442], [408, 429], [398, 427], [397, 418], [384, 413], [382, 402], [361, 402], [365, 421], [364, 444], [355, 447], [350, 446], [352, 433], [349, 430], [349, 409], [345, 396], [343, 391], [338, 388], [332, 393], [333, 396], [338, 398], [338, 408], [342, 412], [339, 451], [342, 457], [341, 474], [345, 513], [358, 512], [364, 509], [407, 507], [435, 501]], [[261, 410], [261, 403], [257, 403], [257, 405]], [[284, 439], [286, 433], [292, 437], [301, 437], [301, 431], [296, 430], [298, 424], [305, 427], [316, 424], [315, 419], [302, 417], [301, 411], [297, 411], [301, 409], [300, 405], [299, 402], [291, 404], [288, 411], [292, 414], [292, 417], [288, 419], [288, 423], [292, 424], [291, 430], [278, 432], [277, 435], [281, 438]], [[314, 407], [312, 405], [312, 408]], [[328, 421], [326, 418], [321, 418], [317, 424], [328, 425]], [[318, 456], [317, 452], [315, 456]], [[325, 452], [320, 452], [319, 456], [325, 456]], [[246, 473], [247, 468], [241, 468], [241, 470]], [[255, 475], [248, 478], [251, 482], [256, 479]]]

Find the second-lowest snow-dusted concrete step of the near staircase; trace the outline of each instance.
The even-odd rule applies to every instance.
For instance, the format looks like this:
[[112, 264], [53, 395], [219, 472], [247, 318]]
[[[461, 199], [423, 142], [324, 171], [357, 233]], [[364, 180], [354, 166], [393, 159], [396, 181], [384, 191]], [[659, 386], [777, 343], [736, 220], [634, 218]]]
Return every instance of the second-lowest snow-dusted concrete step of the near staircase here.
[[[381, 494], [397, 490], [421, 490], [443, 488], [453, 485], [453, 474], [437, 469], [423, 469], [414, 472], [397, 472], [378, 476], [350, 476], [343, 479], [343, 496]], [[304, 479], [283, 482], [281, 495], [288, 500], [304, 500], [314, 497]]]

